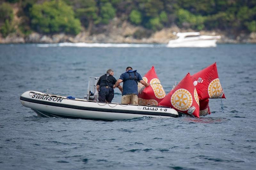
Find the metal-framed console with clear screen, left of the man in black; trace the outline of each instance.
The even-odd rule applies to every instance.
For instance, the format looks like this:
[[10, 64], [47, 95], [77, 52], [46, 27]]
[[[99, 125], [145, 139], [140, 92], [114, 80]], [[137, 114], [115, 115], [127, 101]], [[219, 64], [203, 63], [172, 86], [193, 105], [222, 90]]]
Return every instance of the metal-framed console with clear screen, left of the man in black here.
[[84, 95], [84, 99], [97, 101], [97, 99], [98, 99], [98, 91], [97, 91], [98, 80], [99, 80], [98, 77], [89, 77], [87, 93]]

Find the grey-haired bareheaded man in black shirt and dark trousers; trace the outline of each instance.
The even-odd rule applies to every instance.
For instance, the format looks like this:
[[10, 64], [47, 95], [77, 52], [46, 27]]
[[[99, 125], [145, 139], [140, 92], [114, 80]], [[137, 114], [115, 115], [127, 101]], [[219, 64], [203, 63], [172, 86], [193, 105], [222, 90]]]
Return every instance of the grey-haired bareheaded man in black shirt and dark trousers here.
[[[100, 77], [98, 83], [97, 83], [97, 91], [99, 92], [98, 100], [100, 102], [108, 102], [111, 103], [111, 101], [114, 98], [114, 89], [113, 86], [116, 83], [116, 78], [114, 76], [114, 71], [109, 69], [107, 71], [107, 74], [104, 74]], [[121, 85], [118, 86], [119, 90], [123, 92], [123, 88]]]

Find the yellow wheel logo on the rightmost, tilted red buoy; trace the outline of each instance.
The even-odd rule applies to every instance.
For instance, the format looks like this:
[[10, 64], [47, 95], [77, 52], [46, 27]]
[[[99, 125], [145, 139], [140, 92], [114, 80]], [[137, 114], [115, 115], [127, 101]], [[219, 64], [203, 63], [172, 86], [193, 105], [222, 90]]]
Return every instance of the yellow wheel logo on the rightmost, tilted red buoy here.
[[212, 80], [212, 82], [208, 86], [208, 94], [211, 99], [220, 98], [222, 95], [222, 88], [220, 85], [219, 78]]

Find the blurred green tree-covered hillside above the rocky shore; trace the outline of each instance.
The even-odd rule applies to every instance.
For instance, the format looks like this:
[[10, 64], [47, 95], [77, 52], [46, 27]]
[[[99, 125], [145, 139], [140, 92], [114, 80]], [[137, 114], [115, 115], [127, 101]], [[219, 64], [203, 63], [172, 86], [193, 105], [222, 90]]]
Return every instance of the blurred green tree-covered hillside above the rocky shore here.
[[[14, 19], [18, 9], [19, 22]], [[196, 31], [256, 32], [256, 0], [2, 0], [0, 32], [78, 34], [113, 18], [152, 32], [173, 25]]]

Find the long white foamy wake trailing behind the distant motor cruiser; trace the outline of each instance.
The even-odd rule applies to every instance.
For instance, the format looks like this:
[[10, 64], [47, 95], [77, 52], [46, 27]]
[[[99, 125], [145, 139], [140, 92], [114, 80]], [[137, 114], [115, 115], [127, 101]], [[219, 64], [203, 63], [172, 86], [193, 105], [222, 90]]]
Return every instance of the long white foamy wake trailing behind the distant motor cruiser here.
[[154, 48], [154, 47], [166, 47], [166, 45], [154, 45], [154, 44], [114, 44], [114, 43], [71, 43], [71, 42], [63, 42], [63, 43], [55, 43], [55, 44], [36, 44], [36, 47], [115, 47], [115, 48]]

